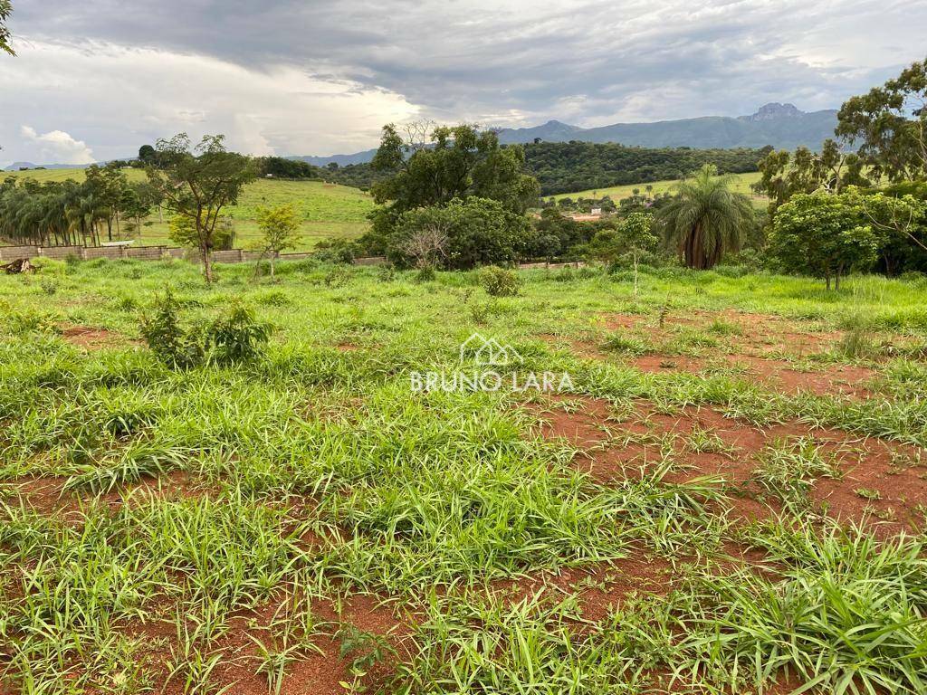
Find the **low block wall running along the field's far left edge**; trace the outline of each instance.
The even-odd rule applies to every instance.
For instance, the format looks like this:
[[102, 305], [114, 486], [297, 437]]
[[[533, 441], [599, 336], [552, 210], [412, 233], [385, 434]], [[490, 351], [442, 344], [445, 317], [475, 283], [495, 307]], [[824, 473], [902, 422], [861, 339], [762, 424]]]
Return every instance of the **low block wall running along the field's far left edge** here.
[[[163, 258], [183, 259], [187, 249], [178, 246], [0, 246], [0, 263], [16, 259], [136, 259], [160, 260]], [[310, 252], [282, 253], [280, 260], [298, 260], [311, 257]], [[243, 248], [231, 248], [225, 251], [213, 251], [212, 260], [216, 263], [246, 263], [260, 259], [260, 251], [246, 251]], [[379, 265], [387, 259], [373, 256], [355, 259], [357, 265]]]

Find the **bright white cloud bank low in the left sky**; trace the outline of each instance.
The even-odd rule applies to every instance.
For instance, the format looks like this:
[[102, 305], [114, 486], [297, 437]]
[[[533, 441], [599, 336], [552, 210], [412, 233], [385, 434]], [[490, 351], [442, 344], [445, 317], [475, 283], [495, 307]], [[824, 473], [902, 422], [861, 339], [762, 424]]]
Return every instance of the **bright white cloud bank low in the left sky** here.
[[248, 69], [113, 44], [18, 47], [0, 71], [0, 110], [30, 127], [17, 132], [0, 118], [7, 162], [50, 163], [54, 154], [55, 162], [83, 163], [91, 149], [99, 159], [133, 157], [180, 131], [195, 140], [223, 133], [230, 147], [254, 155], [335, 154], [375, 146], [385, 122], [418, 112], [385, 89], [289, 65]]

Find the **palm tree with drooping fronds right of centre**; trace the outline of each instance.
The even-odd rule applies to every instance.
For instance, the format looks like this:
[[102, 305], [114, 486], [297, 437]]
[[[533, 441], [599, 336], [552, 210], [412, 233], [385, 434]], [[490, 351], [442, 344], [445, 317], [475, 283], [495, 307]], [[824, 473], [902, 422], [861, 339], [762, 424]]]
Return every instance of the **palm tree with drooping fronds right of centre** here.
[[743, 230], [754, 223], [753, 204], [729, 190], [732, 179], [705, 164], [676, 185], [677, 195], [659, 211], [667, 240], [679, 245], [689, 268], [714, 268], [725, 251], [740, 248]]

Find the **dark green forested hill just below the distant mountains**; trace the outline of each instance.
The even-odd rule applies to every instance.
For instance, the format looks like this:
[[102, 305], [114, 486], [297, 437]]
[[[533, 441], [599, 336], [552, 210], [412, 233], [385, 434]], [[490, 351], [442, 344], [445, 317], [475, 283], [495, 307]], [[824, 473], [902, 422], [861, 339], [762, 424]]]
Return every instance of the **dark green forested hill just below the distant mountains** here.
[[756, 171], [763, 149], [647, 149], [615, 143], [535, 143], [525, 145], [527, 171], [543, 196], [607, 188], [626, 183], [681, 179], [705, 164], [721, 173]]

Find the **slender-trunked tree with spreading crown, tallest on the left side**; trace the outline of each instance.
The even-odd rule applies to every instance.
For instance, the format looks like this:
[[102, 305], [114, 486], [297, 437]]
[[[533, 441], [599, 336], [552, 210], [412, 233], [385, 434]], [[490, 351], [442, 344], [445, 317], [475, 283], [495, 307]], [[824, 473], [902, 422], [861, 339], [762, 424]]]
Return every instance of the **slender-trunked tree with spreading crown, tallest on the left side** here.
[[257, 176], [251, 160], [228, 152], [223, 140], [222, 135], [206, 135], [194, 148], [186, 133], [159, 140], [155, 146], [159, 167], [146, 168], [148, 181], [174, 214], [188, 221], [188, 243], [199, 251], [210, 284], [222, 208], [234, 205], [245, 184]]

